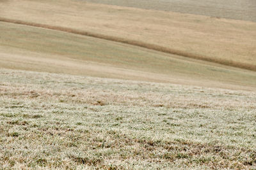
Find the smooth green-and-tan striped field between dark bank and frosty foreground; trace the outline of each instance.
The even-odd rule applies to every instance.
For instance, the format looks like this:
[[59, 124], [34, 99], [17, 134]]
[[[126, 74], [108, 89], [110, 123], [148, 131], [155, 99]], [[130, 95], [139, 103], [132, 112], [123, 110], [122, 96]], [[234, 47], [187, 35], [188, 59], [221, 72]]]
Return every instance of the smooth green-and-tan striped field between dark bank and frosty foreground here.
[[253, 71], [19, 24], [0, 32], [4, 68], [255, 90]]

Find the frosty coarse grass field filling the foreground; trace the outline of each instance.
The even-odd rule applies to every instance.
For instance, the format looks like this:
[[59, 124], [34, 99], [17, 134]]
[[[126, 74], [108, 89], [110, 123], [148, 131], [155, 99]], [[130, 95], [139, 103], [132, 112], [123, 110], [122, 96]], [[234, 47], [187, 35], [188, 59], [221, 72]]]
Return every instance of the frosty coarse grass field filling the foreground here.
[[256, 94], [0, 69], [0, 168], [255, 169]]

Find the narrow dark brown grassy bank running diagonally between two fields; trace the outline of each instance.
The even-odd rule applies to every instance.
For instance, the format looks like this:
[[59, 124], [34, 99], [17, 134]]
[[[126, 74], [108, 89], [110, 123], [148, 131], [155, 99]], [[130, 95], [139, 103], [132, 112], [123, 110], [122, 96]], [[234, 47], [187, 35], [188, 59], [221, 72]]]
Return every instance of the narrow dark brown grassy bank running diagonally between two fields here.
[[142, 41], [136, 41], [136, 40], [132, 40], [132, 39], [118, 38], [118, 37], [115, 37], [115, 36], [97, 34], [97, 33], [88, 32], [88, 31], [80, 31], [80, 30], [71, 29], [71, 28], [68, 28], [68, 27], [60, 27], [60, 26], [46, 25], [46, 24], [37, 24], [37, 23], [33, 23], [33, 22], [26, 22], [26, 21], [22, 21], [22, 20], [13, 20], [13, 19], [9, 19], [9, 18], [1, 18], [0, 17], [0, 22], [8, 22], [8, 23], [13, 23], [13, 24], [22, 24], [22, 25], [29, 25], [29, 26], [33, 26], [33, 27], [41, 27], [41, 28], [44, 28], [44, 29], [52, 29], [52, 30], [55, 30], [55, 31], [70, 32], [70, 33], [73, 33], [73, 34], [79, 34], [79, 35], [83, 35], [83, 36], [90, 36], [90, 37], [93, 37], [93, 38], [106, 39], [106, 40], [109, 40], [109, 41], [116, 41], [116, 42], [125, 43], [125, 44], [128, 44], [128, 45], [140, 46], [140, 47], [143, 47], [143, 48], [148, 48], [150, 50], [156, 50], [158, 52], [170, 53], [170, 54], [173, 54], [173, 55], [180, 55], [182, 57], [205, 60], [205, 61], [209, 61], [209, 62], [215, 62], [215, 63], [218, 63], [218, 64], [223, 64], [223, 65], [226, 65], [226, 66], [233, 66], [233, 67], [239, 67], [239, 68], [242, 68], [242, 69], [248, 69], [248, 70], [251, 70], [251, 71], [256, 71], [256, 66], [254, 64], [244, 64], [244, 63], [240, 63], [240, 62], [236, 62], [236, 61], [232, 61], [232, 60], [225, 60], [225, 59], [211, 59], [209, 57], [205, 57], [205, 56], [200, 55], [200, 54], [184, 52], [184, 51], [175, 50], [175, 49], [172, 49], [172, 48], [166, 48], [164, 46], [153, 45], [153, 44], [150, 44], [150, 43], [145, 43], [145, 42], [142, 42]]

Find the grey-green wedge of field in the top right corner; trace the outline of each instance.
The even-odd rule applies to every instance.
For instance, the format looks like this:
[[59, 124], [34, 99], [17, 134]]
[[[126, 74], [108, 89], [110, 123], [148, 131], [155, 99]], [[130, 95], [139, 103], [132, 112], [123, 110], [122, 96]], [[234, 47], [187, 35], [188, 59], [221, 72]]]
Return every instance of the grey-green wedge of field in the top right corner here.
[[236, 20], [250, 20], [256, 22], [256, 3], [253, 0], [81, 0], [90, 3], [129, 6], [148, 10], [174, 11], [192, 13], [218, 18], [232, 18]]

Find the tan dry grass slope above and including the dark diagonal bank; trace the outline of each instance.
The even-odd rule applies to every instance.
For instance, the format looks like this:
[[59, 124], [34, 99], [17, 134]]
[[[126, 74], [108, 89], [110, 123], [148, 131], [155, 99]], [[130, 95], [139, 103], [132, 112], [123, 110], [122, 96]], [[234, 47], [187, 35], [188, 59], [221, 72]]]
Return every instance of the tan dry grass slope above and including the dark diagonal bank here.
[[1, 17], [256, 70], [253, 22], [68, 0], [8, 1]]

